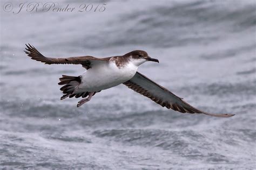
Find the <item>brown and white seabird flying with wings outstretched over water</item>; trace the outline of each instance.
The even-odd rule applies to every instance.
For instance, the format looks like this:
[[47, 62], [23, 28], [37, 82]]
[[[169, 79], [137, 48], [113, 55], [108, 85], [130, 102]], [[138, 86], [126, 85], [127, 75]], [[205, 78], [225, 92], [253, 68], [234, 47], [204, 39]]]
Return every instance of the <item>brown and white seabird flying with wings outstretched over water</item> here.
[[147, 61], [158, 62], [158, 59], [151, 58], [147, 52], [135, 50], [124, 55], [96, 58], [95, 56], [72, 56], [66, 58], [46, 57], [30, 45], [25, 44], [25, 53], [32, 60], [41, 61], [45, 64], [73, 64], [82, 65], [86, 70], [79, 76], [62, 75], [59, 78], [60, 90], [64, 98], [82, 97], [77, 104], [80, 107], [89, 102], [96, 93], [124, 84], [128, 88], [150, 98], [157, 104], [167, 109], [172, 109], [188, 114], [204, 114], [214, 117], [231, 117], [234, 114], [210, 114], [199, 110], [188, 104], [183, 98], [173, 94], [170, 90], [160, 86], [156, 82], [137, 71], [142, 63]]

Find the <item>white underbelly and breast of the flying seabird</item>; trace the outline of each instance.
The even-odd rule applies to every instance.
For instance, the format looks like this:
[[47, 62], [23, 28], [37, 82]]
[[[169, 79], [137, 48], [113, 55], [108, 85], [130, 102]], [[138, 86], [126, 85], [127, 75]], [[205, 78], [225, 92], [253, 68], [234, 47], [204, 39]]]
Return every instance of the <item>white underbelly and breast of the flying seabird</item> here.
[[102, 63], [82, 74], [82, 82], [76, 92], [100, 91], [130, 80], [137, 72], [133, 64], [118, 68], [116, 63]]

